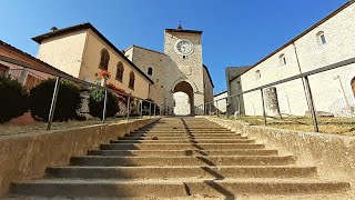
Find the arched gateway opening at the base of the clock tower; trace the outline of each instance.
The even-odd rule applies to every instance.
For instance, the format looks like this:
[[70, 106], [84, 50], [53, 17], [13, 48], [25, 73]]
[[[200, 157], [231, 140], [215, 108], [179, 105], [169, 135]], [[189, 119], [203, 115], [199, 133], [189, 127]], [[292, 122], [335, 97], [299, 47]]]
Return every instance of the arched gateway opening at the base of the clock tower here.
[[[187, 94], [189, 99], [184, 100], [184, 98], [186, 98], [186, 96], [179, 94], [181, 92]], [[178, 84], [175, 84], [175, 87], [173, 89], [173, 93], [174, 93], [174, 98], [178, 98], [178, 99], [174, 99], [175, 100], [174, 113], [179, 114], [179, 116], [194, 116], [194, 113], [195, 113], [194, 97], [193, 97], [194, 92], [193, 92], [192, 86], [186, 81], [181, 81]], [[189, 103], [176, 104], [176, 103], [182, 103], [186, 100]], [[186, 109], [185, 108], [186, 106], [190, 106], [190, 109]]]

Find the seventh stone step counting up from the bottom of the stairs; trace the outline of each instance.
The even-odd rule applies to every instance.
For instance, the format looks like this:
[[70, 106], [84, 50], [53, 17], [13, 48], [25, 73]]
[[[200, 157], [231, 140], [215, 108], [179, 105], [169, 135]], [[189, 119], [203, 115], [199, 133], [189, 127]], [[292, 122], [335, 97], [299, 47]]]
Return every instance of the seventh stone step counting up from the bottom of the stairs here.
[[233, 139], [247, 139], [247, 137], [241, 137], [241, 136], [227, 136], [227, 137], [190, 137], [190, 136], [182, 136], [182, 137], [151, 137], [151, 136], [145, 136], [145, 137], [119, 137], [119, 140], [184, 140], [184, 139], [202, 139], [202, 140], [233, 140]]

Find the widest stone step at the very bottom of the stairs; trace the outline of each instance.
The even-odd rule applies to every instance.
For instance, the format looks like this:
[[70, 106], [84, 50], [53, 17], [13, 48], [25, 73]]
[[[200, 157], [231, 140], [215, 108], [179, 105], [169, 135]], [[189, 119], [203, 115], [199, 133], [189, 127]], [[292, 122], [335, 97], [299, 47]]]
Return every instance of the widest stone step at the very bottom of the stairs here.
[[84, 180], [44, 179], [12, 186], [14, 194], [68, 198], [75, 197], [190, 197], [215, 196], [235, 198], [236, 194], [329, 193], [344, 192], [349, 183], [318, 179], [173, 179], [173, 180]]

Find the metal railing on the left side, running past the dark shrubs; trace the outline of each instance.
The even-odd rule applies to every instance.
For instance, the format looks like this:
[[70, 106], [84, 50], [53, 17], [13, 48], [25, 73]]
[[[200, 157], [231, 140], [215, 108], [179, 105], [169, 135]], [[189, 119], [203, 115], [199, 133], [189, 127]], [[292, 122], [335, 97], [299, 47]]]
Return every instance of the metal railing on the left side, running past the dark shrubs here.
[[[125, 93], [125, 92], [121, 92], [121, 91], [118, 91], [118, 90], [113, 90], [113, 89], [108, 88], [106, 86], [99, 86], [99, 84], [95, 84], [95, 83], [92, 83], [92, 82], [87, 82], [84, 80], [74, 78], [74, 77], [72, 77], [70, 74], [67, 74], [64, 72], [60, 72], [59, 70], [52, 70], [52, 72], [49, 72], [49, 71], [51, 71], [51, 69], [49, 69], [47, 71], [39, 70], [39, 69], [36, 69], [31, 64], [28, 64], [28, 63], [19, 61], [19, 60], [14, 60], [12, 58], [3, 57], [1, 54], [0, 54], [0, 61], [7, 62], [7, 63], [10, 63], [10, 64], [14, 64], [14, 66], [18, 66], [18, 67], [22, 67], [23, 69], [32, 69], [34, 71], [44, 72], [44, 73], [50, 74], [50, 76], [55, 78], [55, 84], [54, 84], [51, 106], [50, 106], [49, 116], [48, 116], [47, 130], [50, 130], [51, 127], [52, 127], [55, 104], [57, 104], [57, 100], [58, 100], [59, 88], [60, 88], [60, 83], [61, 83], [62, 80], [72, 81], [74, 83], [80, 84], [81, 87], [91, 87], [91, 88], [98, 88], [98, 89], [104, 90], [104, 100], [103, 100], [103, 110], [102, 110], [102, 120], [101, 120], [102, 123], [105, 123], [105, 120], [106, 120], [108, 92], [112, 92], [112, 93], [114, 93], [116, 96], [123, 96], [123, 97], [125, 97], [128, 99], [128, 101], [126, 101], [126, 116], [125, 116], [125, 119], [128, 121], [132, 119], [132, 117], [130, 116], [131, 114], [130, 113], [130, 108], [131, 108], [131, 102], [133, 100], [138, 100], [139, 101], [139, 107], [140, 107], [140, 109], [139, 109], [140, 110], [139, 118], [140, 119], [143, 118], [143, 102], [149, 103], [149, 107], [150, 107], [149, 113], [148, 113], [149, 117], [152, 117], [152, 116], [170, 116], [170, 114], [173, 113], [173, 108], [171, 108], [171, 107], [163, 106], [163, 104], [158, 106], [153, 101], [150, 101], [150, 100], [146, 100], [146, 99], [142, 99], [142, 98], [139, 98], [139, 97], [134, 97], [131, 93]], [[16, 74], [18, 74], [18, 73], [14, 74], [14, 71], [18, 71], [18, 72], [21, 73], [21, 70], [22, 69], [17, 69], [17, 70], [11, 71], [11, 74], [13, 74], [13, 76], [11, 76], [11, 79], [19, 79], [21, 76], [16, 77]], [[10, 74], [9, 70], [8, 70], [8, 72], [3, 72], [3, 74]], [[33, 73], [33, 74], [37, 76], [36, 73]], [[39, 77], [39, 76], [37, 76], [37, 77]]]

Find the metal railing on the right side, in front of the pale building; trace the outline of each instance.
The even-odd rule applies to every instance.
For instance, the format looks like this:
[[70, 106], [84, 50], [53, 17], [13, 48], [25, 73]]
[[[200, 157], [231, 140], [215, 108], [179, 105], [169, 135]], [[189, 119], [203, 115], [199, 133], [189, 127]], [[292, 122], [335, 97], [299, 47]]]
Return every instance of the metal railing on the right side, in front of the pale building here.
[[212, 107], [214, 107], [213, 104], [214, 103], [217, 104], [219, 101], [221, 101], [221, 100], [229, 101], [229, 99], [232, 99], [232, 98], [236, 97], [237, 98], [237, 107], [239, 107], [239, 117], [241, 117], [242, 116], [242, 112], [241, 112], [241, 110], [242, 110], [242, 108], [241, 108], [242, 107], [241, 98], [243, 97], [243, 94], [255, 92], [255, 91], [260, 91], [261, 92], [262, 109], [263, 109], [263, 120], [264, 120], [264, 126], [266, 126], [267, 124], [267, 119], [266, 119], [266, 109], [265, 109], [265, 100], [264, 100], [263, 89], [266, 89], [266, 88], [270, 88], [270, 87], [273, 87], [273, 86], [276, 86], [276, 84], [290, 82], [290, 81], [293, 81], [293, 80], [302, 79], [303, 84], [304, 84], [304, 90], [305, 90], [305, 97], [306, 97], [306, 101], [307, 101], [307, 106], [308, 106], [308, 111], [311, 113], [312, 121], [313, 121], [314, 131], [315, 132], [320, 132], [318, 121], [317, 121], [317, 116], [316, 116], [315, 104], [314, 104], [314, 98], [313, 98], [313, 94], [312, 94], [312, 89], [311, 89], [311, 86], [310, 86], [308, 77], [313, 76], [313, 74], [321, 73], [321, 72], [329, 71], [329, 70], [333, 70], [333, 69], [346, 67], [346, 66], [349, 66], [349, 64], [353, 64], [353, 63], [355, 63], [355, 58], [343, 60], [341, 62], [336, 62], [336, 63], [333, 63], [333, 64], [329, 64], [329, 66], [326, 66], [326, 67], [322, 67], [322, 68], [318, 68], [318, 69], [315, 69], [315, 70], [311, 70], [311, 71], [307, 71], [307, 72], [303, 72], [303, 73], [300, 73], [300, 74], [296, 74], [296, 76], [293, 76], [293, 77], [290, 77], [290, 78], [286, 78], [286, 79], [274, 81], [274, 82], [271, 82], [271, 83], [267, 83], [267, 84], [264, 84], [264, 86], [261, 86], [261, 87], [256, 87], [256, 88], [253, 88], [253, 89], [250, 89], [250, 90], [236, 93], [236, 94], [227, 96], [225, 98], [221, 98], [221, 99], [215, 100], [215, 101], [206, 102], [204, 104], [197, 106], [197, 108], [204, 110], [204, 114], [216, 114], [216, 116], [220, 116], [219, 109], [212, 108]]

